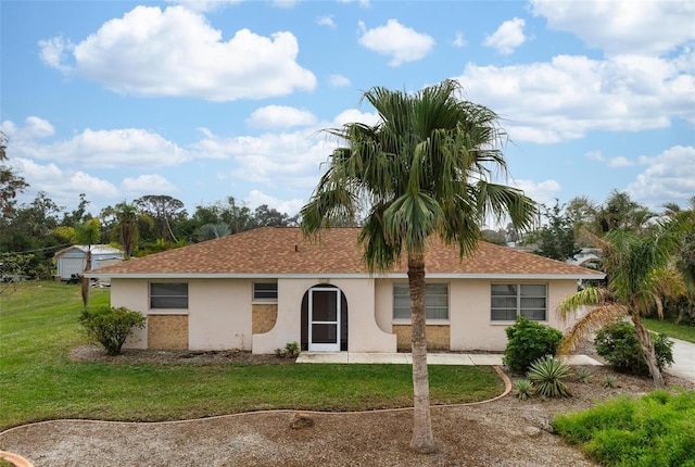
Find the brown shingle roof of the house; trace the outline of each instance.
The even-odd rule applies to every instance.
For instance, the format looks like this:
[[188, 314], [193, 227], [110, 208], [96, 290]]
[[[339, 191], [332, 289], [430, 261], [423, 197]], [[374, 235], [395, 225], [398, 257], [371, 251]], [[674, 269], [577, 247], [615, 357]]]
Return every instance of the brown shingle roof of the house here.
[[[320, 242], [305, 239], [295, 227], [263, 227], [233, 236], [101, 268], [109, 277], [366, 275], [358, 228], [332, 228]], [[404, 274], [405, 261], [391, 273]], [[478, 251], [459, 261], [455, 245], [432, 241], [427, 250], [428, 275], [596, 278], [594, 270], [531, 253], [479, 242]]]

